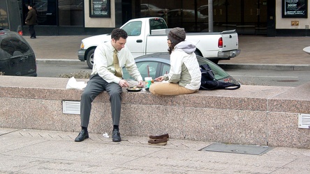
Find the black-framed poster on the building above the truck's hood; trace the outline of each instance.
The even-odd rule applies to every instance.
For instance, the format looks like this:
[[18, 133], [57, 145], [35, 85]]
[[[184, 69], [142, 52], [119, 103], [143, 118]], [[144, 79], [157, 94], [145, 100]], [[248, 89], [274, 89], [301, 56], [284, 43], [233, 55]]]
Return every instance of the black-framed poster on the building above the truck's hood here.
[[89, 0], [89, 17], [110, 17], [110, 0]]

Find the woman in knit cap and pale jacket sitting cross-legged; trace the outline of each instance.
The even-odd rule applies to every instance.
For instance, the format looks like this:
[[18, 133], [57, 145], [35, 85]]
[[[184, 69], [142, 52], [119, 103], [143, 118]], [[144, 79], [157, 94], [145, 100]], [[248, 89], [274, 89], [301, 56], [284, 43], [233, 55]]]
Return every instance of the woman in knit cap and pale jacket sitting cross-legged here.
[[[201, 72], [195, 55], [195, 45], [185, 41], [186, 33], [179, 27], [168, 33], [170, 72], [149, 87], [154, 95], [179, 95], [195, 93], [200, 88]], [[168, 83], [165, 83], [168, 82]]]

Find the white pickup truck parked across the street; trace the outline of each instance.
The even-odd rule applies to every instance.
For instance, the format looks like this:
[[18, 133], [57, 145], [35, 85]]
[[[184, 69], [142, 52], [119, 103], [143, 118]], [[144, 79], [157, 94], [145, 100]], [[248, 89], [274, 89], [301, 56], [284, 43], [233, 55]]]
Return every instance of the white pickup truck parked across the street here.
[[[170, 31], [161, 17], [131, 19], [120, 27], [128, 33], [126, 47], [133, 57], [156, 52], [168, 52], [167, 35]], [[95, 35], [82, 40], [77, 56], [93, 67], [94, 51], [101, 42], [110, 42], [111, 35]], [[238, 34], [235, 30], [212, 33], [186, 33], [186, 40], [196, 46], [195, 54], [214, 63], [238, 56]]]

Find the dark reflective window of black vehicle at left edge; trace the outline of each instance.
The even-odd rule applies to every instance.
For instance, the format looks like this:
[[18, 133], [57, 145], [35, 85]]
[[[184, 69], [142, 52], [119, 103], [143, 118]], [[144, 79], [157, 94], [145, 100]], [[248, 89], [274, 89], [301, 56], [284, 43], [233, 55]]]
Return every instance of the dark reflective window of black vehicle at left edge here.
[[25, 42], [17, 38], [17, 35], [10, 34], [6, 37], [1, 37], [0, 35], [0, 50], [1, 59], [31, 54], [31, 49]]

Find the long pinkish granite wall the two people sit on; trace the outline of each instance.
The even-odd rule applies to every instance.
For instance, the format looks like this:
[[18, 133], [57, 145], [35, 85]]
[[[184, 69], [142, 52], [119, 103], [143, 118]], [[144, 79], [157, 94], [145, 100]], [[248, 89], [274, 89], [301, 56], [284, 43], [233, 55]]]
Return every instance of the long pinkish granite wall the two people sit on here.
[[[68, 79], [0, 76], [0, 81], [0, 127], [80, 131], [80, 115], [63, 113], [63, 101], [79, 101], [82, 93], [66, 89]], [[298, 128], [298, 113], [310, 113], [310, 83], [177, 96], [124, 89], [122, 98], [122, 135], [168, 132], [171, 139], [310, 148], [310, 130]], [[108, 93], [92, 106], [89, 132], [111, 134]]]

